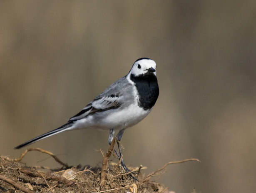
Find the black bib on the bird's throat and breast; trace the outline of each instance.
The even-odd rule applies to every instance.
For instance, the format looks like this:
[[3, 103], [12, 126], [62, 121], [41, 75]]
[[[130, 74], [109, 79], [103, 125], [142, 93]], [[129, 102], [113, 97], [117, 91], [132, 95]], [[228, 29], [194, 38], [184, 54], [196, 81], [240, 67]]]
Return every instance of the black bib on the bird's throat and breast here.
[[157, 101], [159, 88], [157, 77], [153, 73], [145, 73], [140, 76], [130, 75], [139, 93], [139, 107], [144, 110], [151, 109]]

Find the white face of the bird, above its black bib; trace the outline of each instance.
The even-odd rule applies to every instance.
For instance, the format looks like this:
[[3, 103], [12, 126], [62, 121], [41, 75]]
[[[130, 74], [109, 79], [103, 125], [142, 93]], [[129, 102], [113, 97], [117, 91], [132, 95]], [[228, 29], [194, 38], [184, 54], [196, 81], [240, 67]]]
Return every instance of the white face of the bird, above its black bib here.
[[153, 73], [155, 76], [157, 76], [157, 64], [155, 63], [155, 61], [152, 59], [141, 59], [139, 61], [134, 62], [128, 76], [130, 74], [133, 74], [134, 76], [145, 74], [149, 71], [150, 68], [153, 68], [155, 70]]

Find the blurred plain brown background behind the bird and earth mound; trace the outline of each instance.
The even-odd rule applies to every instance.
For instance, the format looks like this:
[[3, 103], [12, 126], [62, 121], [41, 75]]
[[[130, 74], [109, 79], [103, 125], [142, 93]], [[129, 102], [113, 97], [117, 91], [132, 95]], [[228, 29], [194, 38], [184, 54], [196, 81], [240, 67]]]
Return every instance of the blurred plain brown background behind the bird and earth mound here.
[[[256, 189], [256, 1], [0, 1], [0, 154], [55, 129], [133, 62], [157, 63], [160, 95], [122, 139], [124, 160], [168, 166], [176, 193]], [[109, 132], [32, 144], [70, 165], [101, 164]], [[30, 166], [58, 166], [31, 152]], [[47, 159], [46, 159], [47, 158]], [[46, 159], [46, 160], [45, 160]], [[115, 160], [117, 161], [117, 160]]]

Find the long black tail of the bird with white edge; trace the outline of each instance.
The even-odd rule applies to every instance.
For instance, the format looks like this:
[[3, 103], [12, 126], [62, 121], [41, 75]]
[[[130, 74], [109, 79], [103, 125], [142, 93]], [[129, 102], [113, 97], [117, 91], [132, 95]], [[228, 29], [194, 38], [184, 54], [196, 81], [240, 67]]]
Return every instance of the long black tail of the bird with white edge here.
[[50, 132], [42, 134], [42, 135], [40, 135], [38, 137], [35, 137], [34, 139], [30, 139], [29, 141], [27, 141], [27, 142], [25, 142], [23, 144], [18, 145], [14, 149], [20, 149], [22, 147], [25, 147], [27, 145], [30, 145], [30, 144], [35, 143], [37, 141], [40, 141], [41, 139], [44, 139], [46, 137], [50, 137], [50, 136], [55, 135], [57, 133], [63, 132], [65, 130], [69, 129], [72, 125], [73, 125], [73, 122], [68, 122], [65, 125], [62, 125], [61, 127], [57, 128], [57, 129], [54, 129], [54, 130], [52, 130]]

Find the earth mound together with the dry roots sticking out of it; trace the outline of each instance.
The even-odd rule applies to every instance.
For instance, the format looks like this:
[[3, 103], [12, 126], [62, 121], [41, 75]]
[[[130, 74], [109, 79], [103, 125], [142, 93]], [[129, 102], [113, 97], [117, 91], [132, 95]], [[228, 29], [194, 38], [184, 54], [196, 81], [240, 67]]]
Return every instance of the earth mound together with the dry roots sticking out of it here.
[[[65, 168], [70, 168], [67, 164], [60, 161], [60, 159], [58, 159], [57, 156], [55, 156], [51, 152], [45, 151], [39, 148], [30, 148], [22, 152], [22, 154], [18, 159], [10, 159], [5, 156], [0, 156], [0, 174], [1, 174], [0, 181], [4, 181], [7, 184], [12, 185], [13, 187], [25, 193], [32, 193], [31, 190], [33, 190], [30, 188], [29, 189], [25, 188], [24, 187], [25, 184], [24, 186], [22, 186], [22, 183], [26, 183], [26, 181], [33, 182], [31, 184], [32, 186], [34, 186], [34, 188], [37, 188], [40, 191], [45, 191], [45, 187], [42, 187], [42, 181], [38, 181], [38, 179], [40, 178], [43, 179], [43, 181], [46, 184], [45, 186], [48, 187], [46, 191], [51, 193], [76, 192], [81, 190], [85, 192], [94, 192], [94, 193], [104, 193], [109, 191], [114, 191], [114, 192], [130, 192], [131, 191], [134, 193], [134, 192], [137, 192], [137, 189], [139, 189], [142, 192], [148, 192], [148, 193], [156, 193], [156, 192], [162, 193], [166, 191], [167, 188], [164, 188], [159, 183], [150, 182], [149, 181], [150, 178], [152, 178], [153, 176], [158, 176], [163, 174], [164, 170], [169, 164], [179, 164], [179, 163], [184, 163], [186, 161], [200, 162], [198, 159], [184, 159], [181, 161], [171, 161], [165, 164], [162, 168], [157, 169], [156, 171], [150, 173], [146, 177], [142, 177], [143, 175], [140, 174], [140, 171], [142, 169], [146, 169], [146, 167], [140, 166], [132, 169], [132, 171], [129, 172], [131, 173], [131, 172], [137, 171], [137, 173], [139, 174], [140, 182], [137, 184], [134, 184], [134, 182], [131, 181], [131, 179], [129, 178], [129, 175], [128, 175], [129, 173], [124, 173], [121, 167], [117, 167], [116, 164], [114, 166], [110, 164], [109, 164], [109, 167], [107, 166], [109, 157], [113, 153], [114, 144], [116, 143], [116, 140], [117, 140], [116, 138], [113, 139], [105, 155], [102, 153], [102, 155], [104, 155], [104, 159], [102, 163], [101, 172], [99, 172], [99, 169], [96, 169], [96, 168], [92, 169], [90, 167], [85, 167], [83, 171], [79, 171], [77, 168], [71, 168], [69, 169], [72, 171], [71, 174], [68, 174], [68, 176], [61, 176], [60, 173], [65, 173], [67, 170], [62, 170], [57, 172], [43, 172], [43, 171], [38, 171], [37, 169], [38, 168], [45, 169], [47, 167], [40, 166], [33, 169], [21, 167], [19, 164], [19, 161], [22, 160], [22, 158], [27, 154], [28, 151], [39, 151], [41, 153], [45, 153], [52, 156], [55, 159], [55, 161], [57, 161], [59, 164], [61, 164]], [[23, 173], [23, 176], [22, 176], [22, 173]], [[17, 180], [17, 178], [20, 179], [21, 181]], [[25, 179], [24, 182], [23, 182], [23, 179]], [[10, 185], [7, 186], [7, 185], [3, 185], [2, 183], [0, 185], [0, 190], [3, 187], [10, 188]], [[65, 187], [65, 189], [62, 189], [63, 187]]]

